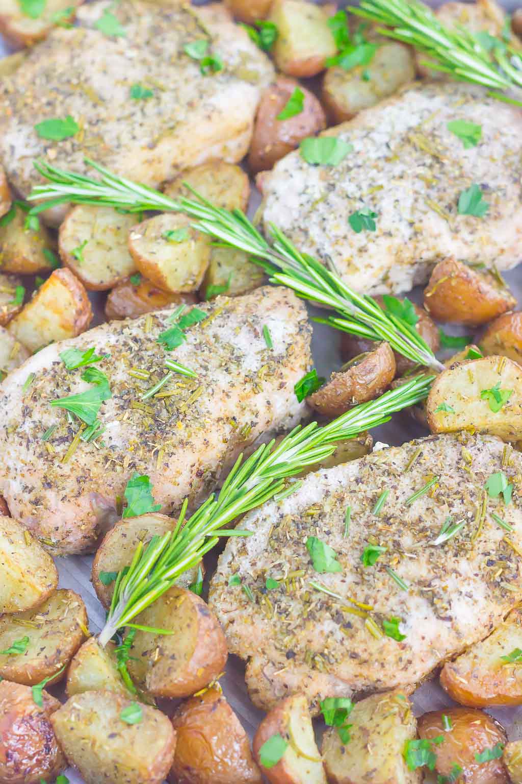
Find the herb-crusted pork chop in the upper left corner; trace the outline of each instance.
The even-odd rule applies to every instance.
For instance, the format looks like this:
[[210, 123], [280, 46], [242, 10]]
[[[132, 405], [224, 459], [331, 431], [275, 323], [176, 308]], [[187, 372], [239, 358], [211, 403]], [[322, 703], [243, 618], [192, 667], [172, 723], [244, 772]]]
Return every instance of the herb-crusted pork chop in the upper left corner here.
[[[236, 162], [247, 152], [273, 67], [222, 6], [95, 2], [79, 19], [94, 27], [106, 13], [117, 17], [120, 37], [56, 29], [0, 83], [0, 161], [23, 195], [39, 181], [39, 157], [85, 172], [87, 155], [157, 186], [186, 166]], [[184, 47], [210, 37], [208, 53], [221, 58], [223, 70], [203, 75]], [[133, 99], [134, 85], [153, 95]], [[45, 140], [34, 130], [67, 115], [80, 126], [73, 137]]]

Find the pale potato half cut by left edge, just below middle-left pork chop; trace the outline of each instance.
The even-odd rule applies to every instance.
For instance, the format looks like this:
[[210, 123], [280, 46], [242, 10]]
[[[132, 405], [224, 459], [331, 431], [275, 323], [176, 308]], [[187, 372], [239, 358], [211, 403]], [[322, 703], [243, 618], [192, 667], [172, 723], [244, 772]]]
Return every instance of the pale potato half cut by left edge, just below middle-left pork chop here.
[[52, 557], [13, 517], [0, 517], [0, 613], [37, 607], [58, 585]]

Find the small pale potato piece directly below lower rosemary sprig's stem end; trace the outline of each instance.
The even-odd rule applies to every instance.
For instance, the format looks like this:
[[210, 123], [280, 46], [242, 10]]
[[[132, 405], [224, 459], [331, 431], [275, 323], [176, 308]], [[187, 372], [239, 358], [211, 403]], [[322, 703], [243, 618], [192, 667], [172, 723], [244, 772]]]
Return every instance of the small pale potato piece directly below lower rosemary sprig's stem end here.
[[84, 691], [116, 691], [124, 697], [131, 697], [118, 672], [114, 648], [113, 642], [102, 648], [95, 637], [89, 637], [81, 645], [67, 670], [67, 697]]

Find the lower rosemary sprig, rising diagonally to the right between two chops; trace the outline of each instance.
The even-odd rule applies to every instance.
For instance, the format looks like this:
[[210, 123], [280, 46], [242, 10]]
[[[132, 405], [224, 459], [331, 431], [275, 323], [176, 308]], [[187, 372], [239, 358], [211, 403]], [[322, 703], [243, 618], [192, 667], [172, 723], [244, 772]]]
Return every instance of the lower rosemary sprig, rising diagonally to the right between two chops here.
[[[185, 499], [173, 532], [154, 536], [136, 548], [128, 570], [118, 573], [106, 626], [99, 640], [105, 645], [123, 626], [149, 607], [187, 569], [199, 564], [224, 533], [225, 526], [283, 491], [286, 479], [331, 455], [344, 441], [387, 422], [391, 414], [423, 400], [434, 376], [417, 376], [376, 400], [351, 408], [320, 427], [297, 426], [279, 445], [261, 445], [248, 459], [239, 456], [218, 495], [210, 495], [185, 521]], [[291, 485], [290, 485], [291, 487]], [[230, 532], [228, 532], [230, 534]]]

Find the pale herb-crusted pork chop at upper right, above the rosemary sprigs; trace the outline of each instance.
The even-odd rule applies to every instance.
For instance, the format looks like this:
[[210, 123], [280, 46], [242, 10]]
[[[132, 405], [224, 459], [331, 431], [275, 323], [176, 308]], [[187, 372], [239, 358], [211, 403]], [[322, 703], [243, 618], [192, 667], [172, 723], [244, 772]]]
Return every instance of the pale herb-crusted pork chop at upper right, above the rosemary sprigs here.
[[[452, 120], [481, 125], [476, 147]], [[261, 176], [262, 216], [356, 291], [407, 291], [448, 256], [501, 270], [522, 259], [519, 108], [474, 85], [417, 82], [326, 133], [354, 150], [337, 166], [287, 155]], [[482, 218], [458, 212], [473, 183], [489, 204]], [[356, 234], [348, 217], [365, 208], [376, 230]]]

